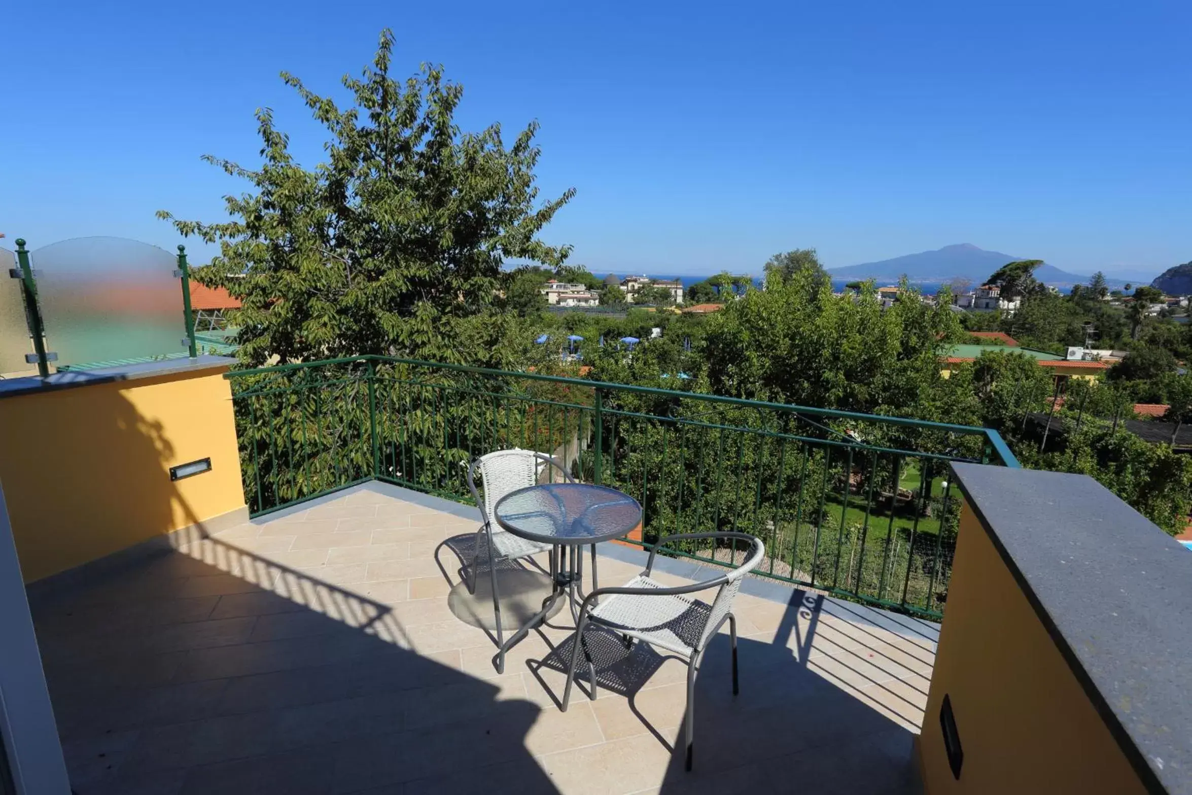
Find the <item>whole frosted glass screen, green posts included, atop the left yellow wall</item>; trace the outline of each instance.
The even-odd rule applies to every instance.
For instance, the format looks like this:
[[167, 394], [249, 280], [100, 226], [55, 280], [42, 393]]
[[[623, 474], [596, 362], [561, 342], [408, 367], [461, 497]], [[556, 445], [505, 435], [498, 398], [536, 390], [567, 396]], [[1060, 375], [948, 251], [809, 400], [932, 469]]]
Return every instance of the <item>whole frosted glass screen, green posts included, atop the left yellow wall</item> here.
[[76, 237], [0, 249], [0, 375], [195, 356], [185, 248]]

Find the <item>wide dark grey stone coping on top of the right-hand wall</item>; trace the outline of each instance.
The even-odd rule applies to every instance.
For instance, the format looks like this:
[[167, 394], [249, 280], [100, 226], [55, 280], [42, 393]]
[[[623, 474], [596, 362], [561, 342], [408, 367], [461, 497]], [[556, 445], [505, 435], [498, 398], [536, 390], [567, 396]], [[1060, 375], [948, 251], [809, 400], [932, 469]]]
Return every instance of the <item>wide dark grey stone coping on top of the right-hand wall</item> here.
[[1192, 553], [1087, 476], [952, 471], [1140, 778], [1192, 795]]

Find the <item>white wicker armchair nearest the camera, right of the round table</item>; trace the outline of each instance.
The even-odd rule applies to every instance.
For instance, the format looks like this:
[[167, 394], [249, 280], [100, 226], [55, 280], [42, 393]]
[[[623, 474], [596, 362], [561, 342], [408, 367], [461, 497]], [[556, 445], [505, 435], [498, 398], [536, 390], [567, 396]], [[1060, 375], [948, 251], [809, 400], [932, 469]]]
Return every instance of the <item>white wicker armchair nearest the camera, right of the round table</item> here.
[[[658, 548], [670, 541], [689, 539], [732, 539], [746, 541], [750, 545], [745, 561], [737, 569], [730, 570], [719, 577], [681, 585], [666, 588], [651, 578], [654, 567], [654, 555]], [[669, 652], [685, 658], [687, 671], [687, 769], [691, 769], [691, 745], [694, 735], [694, 709], [693, 700], [695, 690], [695, 676], [700, 670], [700, 660], [708, 642], [720, 632], [725, 621], [728, 622], [728, 632], [733, 650], [733, 695], [740, 691], [737, 681], [737, 616], [733, 615], [733, 600], [740, 590], [741, 578], [753, 570], [762, 560], [765, 547], [762, 540], [746, 533], [681, 533], [659, 539], [658, 544], [650, 551], [650, 560], [646, 570], [631, 579], [623, 588], [598, 588], [584, 600], [579, 608], [579, 622], [576, 627], [575, 641], [571, 650], [571, 664], [567, 666], [567, 684], [563, 692], [563, 712], [567, 710], [571, 701], [571, 687], [575, 682], [576, 665], [579, 662], [579, 651], [588, 650], [584, 644], [584, 629], [589, 623], [607, 627], [613, 632], [623, 635], [626, 641], [632, 639], [644, 640], [651, 646], [665, 648]], [[690, 598], [690, 594], [718, 589], [712, 604]], [[596, 600], [601, 596], [608, 598]], [[591, 659], [588, 659], [590, 697], [596, 697], [596, 669]]]

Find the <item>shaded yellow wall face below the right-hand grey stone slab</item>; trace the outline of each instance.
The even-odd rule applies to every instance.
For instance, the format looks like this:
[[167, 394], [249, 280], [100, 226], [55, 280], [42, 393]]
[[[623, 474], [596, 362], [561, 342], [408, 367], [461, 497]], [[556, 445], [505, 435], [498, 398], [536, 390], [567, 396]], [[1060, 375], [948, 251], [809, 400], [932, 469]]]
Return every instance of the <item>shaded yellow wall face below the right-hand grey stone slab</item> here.
[[[960, 781], [939, 725], [945, 692]], [[1146, 791], [968, 505], [919, 753], [929, 795]]]

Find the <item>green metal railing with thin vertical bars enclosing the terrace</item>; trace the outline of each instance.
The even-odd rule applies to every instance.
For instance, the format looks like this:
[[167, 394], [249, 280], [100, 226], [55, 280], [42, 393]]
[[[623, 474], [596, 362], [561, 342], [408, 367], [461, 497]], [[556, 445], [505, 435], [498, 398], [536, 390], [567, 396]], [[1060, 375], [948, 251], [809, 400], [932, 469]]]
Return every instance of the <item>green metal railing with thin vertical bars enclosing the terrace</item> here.
[[228, 378], [254, 516], [371, 479], [470, 502], [467, 464], [521, 447], [635, 497], [639, 544], [753, 533], [760, 574], [931, 617], [958, 524], [949, 462], [1018, 466], [986, 428], [542, 373], [359, 356]]

